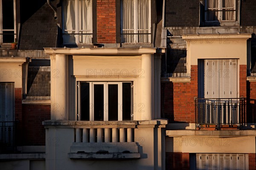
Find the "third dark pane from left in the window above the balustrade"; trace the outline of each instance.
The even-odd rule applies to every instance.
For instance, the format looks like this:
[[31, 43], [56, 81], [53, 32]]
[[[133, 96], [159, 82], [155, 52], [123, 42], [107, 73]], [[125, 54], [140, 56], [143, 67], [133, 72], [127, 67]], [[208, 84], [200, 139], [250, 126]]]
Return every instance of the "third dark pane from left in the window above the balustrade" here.
[[118, 85], [108, 84], [108, 120], [118, 120]]

